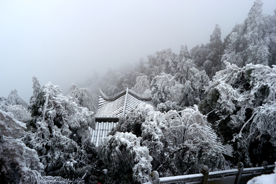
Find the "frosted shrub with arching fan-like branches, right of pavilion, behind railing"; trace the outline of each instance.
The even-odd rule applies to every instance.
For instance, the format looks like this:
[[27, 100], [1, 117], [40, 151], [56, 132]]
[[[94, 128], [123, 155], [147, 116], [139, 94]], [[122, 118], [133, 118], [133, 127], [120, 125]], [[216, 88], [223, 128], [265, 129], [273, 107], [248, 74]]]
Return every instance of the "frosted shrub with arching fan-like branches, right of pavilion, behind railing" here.
[[[197, 173], [202, 165], [221, 169], [224, 157], [218, 143], [205, 129], [206, 120], [197, 106], [179, 112], [166, 113], [168, 123], [165, 137], [167, 159], [163, 164], [166, 176]], [[165, 167], [166, 166], [166, 167]]]

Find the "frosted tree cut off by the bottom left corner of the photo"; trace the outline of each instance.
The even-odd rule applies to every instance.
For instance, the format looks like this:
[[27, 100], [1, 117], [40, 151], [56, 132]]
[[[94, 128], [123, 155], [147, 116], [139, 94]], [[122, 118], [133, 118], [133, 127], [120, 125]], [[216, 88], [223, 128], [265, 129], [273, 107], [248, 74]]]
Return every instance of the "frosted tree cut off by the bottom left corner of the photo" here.
[[37, 152], [17, 139], [26, 125], [0, 110], [0, 179], [5, 183], [45, 183]]

